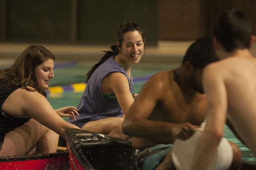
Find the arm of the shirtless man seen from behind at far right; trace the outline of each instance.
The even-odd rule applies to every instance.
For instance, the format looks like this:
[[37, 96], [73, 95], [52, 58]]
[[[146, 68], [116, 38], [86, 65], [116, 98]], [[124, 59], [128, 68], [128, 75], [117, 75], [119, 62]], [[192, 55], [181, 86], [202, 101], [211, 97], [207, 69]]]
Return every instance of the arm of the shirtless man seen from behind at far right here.
[[[214, 68], [215, 67], [215, 68]], [[220, 139], [224, 134], [227, 116], [227, 91], [223, 79], [216, 69], [216, 63], [207, 66], [203, 72], [203, 87], [207, 95], [207, 120], [199, 142], [198, 152], [192, 164], [193, 170], [205, 170], [213, 159]]]

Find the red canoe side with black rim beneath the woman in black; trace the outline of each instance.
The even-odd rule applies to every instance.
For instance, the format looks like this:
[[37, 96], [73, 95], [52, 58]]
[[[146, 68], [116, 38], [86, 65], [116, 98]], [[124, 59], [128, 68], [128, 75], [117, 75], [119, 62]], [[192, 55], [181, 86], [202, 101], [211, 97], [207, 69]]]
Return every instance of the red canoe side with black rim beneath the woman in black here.
[[68, 152], [0, 157], [1, 170], [70, 170]]

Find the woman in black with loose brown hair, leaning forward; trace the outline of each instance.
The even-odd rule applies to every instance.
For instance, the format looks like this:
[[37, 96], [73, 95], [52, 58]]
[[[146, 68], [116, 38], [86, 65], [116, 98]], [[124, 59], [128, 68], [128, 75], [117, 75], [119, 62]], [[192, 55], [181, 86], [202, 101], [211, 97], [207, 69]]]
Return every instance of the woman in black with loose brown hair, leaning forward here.
[[8, 69], [0, 70], [0, 156], [56, 152], [58, 134], [78, 128], [61, 117], [78, 115], [75, 107], [54, 110], [45, 89], [54, 77], [54, 55], [29, 46]]

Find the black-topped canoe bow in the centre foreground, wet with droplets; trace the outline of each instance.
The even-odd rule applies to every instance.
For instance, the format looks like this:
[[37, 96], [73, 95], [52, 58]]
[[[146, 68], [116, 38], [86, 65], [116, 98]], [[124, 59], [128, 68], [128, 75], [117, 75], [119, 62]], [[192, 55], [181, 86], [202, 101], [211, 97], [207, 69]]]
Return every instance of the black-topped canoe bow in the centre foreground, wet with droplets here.
[[69, 128], [65, 130], [71, 170], [132, 170], [131, 141]]

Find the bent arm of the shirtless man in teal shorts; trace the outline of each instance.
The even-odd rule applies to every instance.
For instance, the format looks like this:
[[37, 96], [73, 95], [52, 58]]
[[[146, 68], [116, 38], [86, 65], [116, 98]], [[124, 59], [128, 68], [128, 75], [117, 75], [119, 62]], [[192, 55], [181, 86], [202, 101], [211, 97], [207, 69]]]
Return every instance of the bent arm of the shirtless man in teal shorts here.
[[126, 114], [123, 122], [123, 133], [135, 137], [170, 136], [175, 134], [175, 128], [172, 127], [180, 124], [147, 119], [156, 107], [157, 102], [161, 102], [164, 96], [165, 85], [162, 76], [162, 73], [158, 73], [144, 84], [141, 92]]

